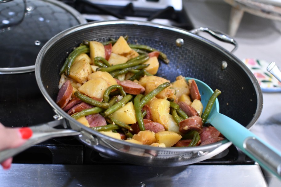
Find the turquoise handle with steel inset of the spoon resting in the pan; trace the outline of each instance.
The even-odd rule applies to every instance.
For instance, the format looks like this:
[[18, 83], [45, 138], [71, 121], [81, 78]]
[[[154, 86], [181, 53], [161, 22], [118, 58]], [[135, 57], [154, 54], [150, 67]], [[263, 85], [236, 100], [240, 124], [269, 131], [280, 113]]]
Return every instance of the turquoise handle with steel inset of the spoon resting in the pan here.
[[215, 113], [207, 120], [229, 141], [281, 180], [281, 153], [235, 120]]

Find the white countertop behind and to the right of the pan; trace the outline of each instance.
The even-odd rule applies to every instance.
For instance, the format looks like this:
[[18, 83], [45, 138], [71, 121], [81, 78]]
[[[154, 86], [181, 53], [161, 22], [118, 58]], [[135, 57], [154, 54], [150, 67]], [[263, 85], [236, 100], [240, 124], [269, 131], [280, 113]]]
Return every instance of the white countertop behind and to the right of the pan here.
[[[227, 33], [231, 6], [223, 0], [184, 0], [183, 5], [195, 28], [209, 27]], [[233, 49], [232, 45], [219, 42], [207, 33], [200, 35], [227, 50]], [[281, 22], [245, 13], [233, 38], [238, 43], [233, 54], [240, 60], [261, 59], [281, 67]], [[263, 93], [263, 110], [251, 131], [281, 151], [281, 93]], [[270, 186], [278, 184], [275, 181]]]

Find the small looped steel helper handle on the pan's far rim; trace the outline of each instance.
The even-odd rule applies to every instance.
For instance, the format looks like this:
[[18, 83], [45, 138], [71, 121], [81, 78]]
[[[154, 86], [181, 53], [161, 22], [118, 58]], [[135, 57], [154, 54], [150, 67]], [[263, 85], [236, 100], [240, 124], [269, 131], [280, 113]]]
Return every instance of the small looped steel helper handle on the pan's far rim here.
[[233, 38], [231, 38], [230, 36], [220, 32], [218, 30], [211, 30], [207, 27], [200, 27], [200, 28], [197, 28], [197, 29], [190, 30], [189, 32], [194, 33], [194, 34], [197, 34], [199, 32], [207, 32], [211, 36], [213, 36], [214, 38], [217, 38], [218, 40], [220, 40], [222, 42], [233, 44], [234, 49], [231, 51], [231, 53], [234, 52], [238, 47], [237, 42]]

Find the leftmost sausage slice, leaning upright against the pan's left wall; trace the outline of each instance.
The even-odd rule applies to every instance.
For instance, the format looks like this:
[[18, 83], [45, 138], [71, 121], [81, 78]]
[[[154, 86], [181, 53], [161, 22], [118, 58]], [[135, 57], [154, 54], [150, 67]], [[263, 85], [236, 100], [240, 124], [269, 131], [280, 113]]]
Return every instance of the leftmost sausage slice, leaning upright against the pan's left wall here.
[[67, 105], [68, 101], [71, 99], [73, 87], [69, 80], [63, 83], [62, 87], [59, 89], [56, 103], [60, 108], [63, 108]]

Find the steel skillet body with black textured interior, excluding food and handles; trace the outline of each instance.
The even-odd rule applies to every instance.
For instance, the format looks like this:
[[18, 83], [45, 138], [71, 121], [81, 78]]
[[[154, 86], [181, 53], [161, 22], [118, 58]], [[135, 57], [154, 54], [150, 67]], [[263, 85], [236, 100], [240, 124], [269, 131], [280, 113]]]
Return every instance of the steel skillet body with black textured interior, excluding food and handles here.
[[[196, 34], [179, 28], [139, 21], [92, 22], [65, 30], [51, 38], [40, 51], [35, 75], [39, 88], [71, 133], [92, 149], [124, 162], [149, 166], [178, 166], [206, 160], [231, 145], [227, 140], [210, 145], [181, 148], [157, 148], [116, 140], [85, 127], [60, 109], [55, 98], [59, 91], [59, 69], [73, 47], [82, 40], [107, 41], [128, 35], [129, 42], [145, 44], [168, 55], [158, 76], [174, 81], [178, 75], [194, 77], [213, 90], [222, 91], [220, 112], [250, 128], [262, 110], [262, 92], [254, 75], [234, 55]], [[177, 39], [184, 41], [177, 46]], [[227, 64], [222, 68], [222, 64]], [[225, 66], [224, 66], [225, 67]], [[226, 124], [227, 125], [227, 124]], [[63, 131], [62, 131], [63, 132]], [[71, 134], [73, 135], [73, 134]], [[237, 135], [239, 136], [239, 134]]]

